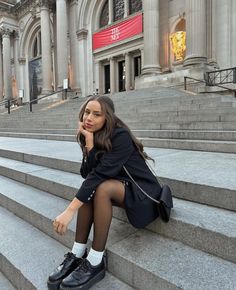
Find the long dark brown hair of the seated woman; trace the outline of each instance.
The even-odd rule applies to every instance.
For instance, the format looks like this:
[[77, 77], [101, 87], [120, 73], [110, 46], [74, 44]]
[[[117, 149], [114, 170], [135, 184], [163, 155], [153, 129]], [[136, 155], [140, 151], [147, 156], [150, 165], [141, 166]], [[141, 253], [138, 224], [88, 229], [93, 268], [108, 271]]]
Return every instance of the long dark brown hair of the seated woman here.
[[[85, 108], [90, 101], [99, 102], [99, 104], [101, 105], [102, 113], [105, 115], [104, 126], [99, 131], [94, 132], [94, 146], [97, 149], [98, 155], [103, 154], [104, 152], [110, 151], [112, 149], [111, 137], [114, 129], [125, 128], [129, 132], [130, 137], [132, 138], [132, 141], [137, 150], [139, 151], [140, 155], [144, 159], [152, 159], [143, 151], [142, 143], [132, 134], [129, 127], [116, 116], [114, 103], [109, 97], [102, 95], [90, 96], [88, 100], [80, 108], [79, 112], [80, 122], [83, 122]], [[83, 154], [86, 154], [84, 135], [78, 133], [77, 141], [81, 146]]]

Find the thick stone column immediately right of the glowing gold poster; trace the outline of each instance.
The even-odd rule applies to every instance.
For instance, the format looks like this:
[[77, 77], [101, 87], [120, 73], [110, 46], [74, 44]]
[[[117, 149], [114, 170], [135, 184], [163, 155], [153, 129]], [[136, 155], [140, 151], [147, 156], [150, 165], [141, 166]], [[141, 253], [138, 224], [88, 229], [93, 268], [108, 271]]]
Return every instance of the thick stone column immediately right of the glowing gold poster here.
[[184, 66], [206, 63], [206, 0], [186, 0]]

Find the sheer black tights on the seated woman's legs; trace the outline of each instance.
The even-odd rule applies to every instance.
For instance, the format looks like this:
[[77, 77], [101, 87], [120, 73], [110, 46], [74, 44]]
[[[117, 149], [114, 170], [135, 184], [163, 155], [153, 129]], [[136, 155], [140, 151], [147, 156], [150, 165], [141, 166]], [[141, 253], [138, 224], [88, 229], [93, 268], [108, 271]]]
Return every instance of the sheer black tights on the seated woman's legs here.
[[92, 202], [79, 209], [75, 241], [86, 244], [92, 224], [94, 235], [92, 247], [104, 251], [112, 219], [112, 206], [124, 207], [125, 187], [121, 181], [107, 180], [101, 183]]

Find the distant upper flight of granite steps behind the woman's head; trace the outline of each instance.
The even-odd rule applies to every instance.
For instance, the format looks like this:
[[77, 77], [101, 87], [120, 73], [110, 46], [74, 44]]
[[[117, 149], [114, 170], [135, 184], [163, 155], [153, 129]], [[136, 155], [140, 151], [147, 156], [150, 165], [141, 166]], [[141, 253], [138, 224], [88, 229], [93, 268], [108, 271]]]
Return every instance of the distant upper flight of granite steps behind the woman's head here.
[[[150, 88], [112, 95], [116, 112], [148, 147], [236, 152], [236, 100]], [[85, 99], [37, 104], [0, 113], [0, 136], [74, 141]]]

